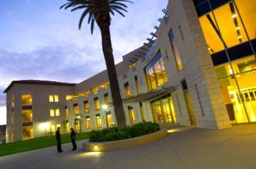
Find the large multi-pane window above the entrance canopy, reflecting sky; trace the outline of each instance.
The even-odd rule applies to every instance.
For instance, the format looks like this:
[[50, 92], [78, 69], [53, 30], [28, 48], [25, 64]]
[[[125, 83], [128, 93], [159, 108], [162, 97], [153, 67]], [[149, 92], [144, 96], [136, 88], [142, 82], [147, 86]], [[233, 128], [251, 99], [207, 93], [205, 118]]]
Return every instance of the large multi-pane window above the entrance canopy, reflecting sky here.
[[164, 59], [161, 57], [160, 51], [151, 60], [148, 66], [146, 66], [145, 72], [149, 91], [154, 90], [167, 81]]

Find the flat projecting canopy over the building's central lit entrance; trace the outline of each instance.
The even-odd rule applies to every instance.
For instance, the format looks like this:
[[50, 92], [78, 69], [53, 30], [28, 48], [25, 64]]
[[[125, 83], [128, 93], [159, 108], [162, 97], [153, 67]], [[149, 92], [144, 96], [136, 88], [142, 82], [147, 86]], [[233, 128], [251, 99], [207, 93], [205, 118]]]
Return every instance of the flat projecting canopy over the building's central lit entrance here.
[[132, 96], [130, 98], [124, 98], [123, 103], [140, 103], [158, 98], [161, 95], [175, 91], [173, 86], [162, 87], [160, 90], [149, 91], [148, 93], [140, 93], [139, 95]]

